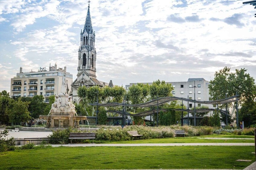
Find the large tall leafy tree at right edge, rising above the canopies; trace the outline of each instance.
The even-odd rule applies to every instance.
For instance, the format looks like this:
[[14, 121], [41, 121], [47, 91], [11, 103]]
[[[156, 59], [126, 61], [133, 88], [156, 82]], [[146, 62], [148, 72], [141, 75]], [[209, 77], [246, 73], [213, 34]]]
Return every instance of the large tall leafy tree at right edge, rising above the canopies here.
[[[254, 83], [254, 78], [251, 77], [248, 73], [246, 73], [246, 69], [235, 69], [235, 72], [231, 72], [230, 68], [224, 67], [222, 70], [215, 72], [215, 78], [209, 83], [209, 94], [212, 96], [213, 100], [223, 99], [225, 98], [225, 94], [227, 93], [227, 97], [231, 97], [236, 95], [236, 92], [240, 95], [238, 105], [244, 107], [241, 111], [239, 111], [239, 119], [246, 120], [247, 117], [252, 117], [251, 112], [248, 110], [252, 110], [254, 106], [254, 99], [256, 97], [256, 85]], [[234, 103], [235, 104], [235, 103]], [[231, 103], [229, 104], [231, 105]], [[219, 105], [219, 108], [225, 108], [225, 104]], [[250, 113], [248, 115], [248, 113]], [[228, 122], [231, 122], [231, 117], [228, 116]], [[221, 115], [221, 120], [225, 121], [225, 116]], [[250, 121], [254, 121], [255, 116], [250, 119]], [[246, 123], [250, 124], [250, 123]]]

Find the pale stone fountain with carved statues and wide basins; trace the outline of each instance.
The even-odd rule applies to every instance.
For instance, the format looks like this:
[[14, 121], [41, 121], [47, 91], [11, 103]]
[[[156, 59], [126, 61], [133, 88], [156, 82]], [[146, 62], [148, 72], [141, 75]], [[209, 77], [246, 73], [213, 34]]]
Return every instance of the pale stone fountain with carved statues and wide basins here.
[[46, 119], [46, 128], [79, 128], [79, 121], [86, 120], [86, 116], [77, 116], [75, 105], [72, 103], [72, 96], [67, 94], [66, 78], [62, 78], [60, 94], [55, 95], [55, 102], [52, 104], [49, 115], [39, 116]]

